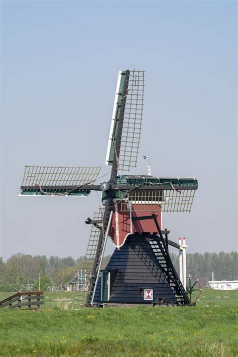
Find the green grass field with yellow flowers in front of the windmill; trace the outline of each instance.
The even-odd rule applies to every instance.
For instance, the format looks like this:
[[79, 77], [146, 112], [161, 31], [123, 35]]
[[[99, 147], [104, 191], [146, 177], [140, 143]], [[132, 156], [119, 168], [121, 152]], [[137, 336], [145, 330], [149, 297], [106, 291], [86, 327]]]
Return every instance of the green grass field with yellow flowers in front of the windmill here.
[[196, 307], [78, 308], [71, 296], [46, 293], [40, 311], [0, 309], [0, 355], [238, 355], [237, 291], [204, 290]]

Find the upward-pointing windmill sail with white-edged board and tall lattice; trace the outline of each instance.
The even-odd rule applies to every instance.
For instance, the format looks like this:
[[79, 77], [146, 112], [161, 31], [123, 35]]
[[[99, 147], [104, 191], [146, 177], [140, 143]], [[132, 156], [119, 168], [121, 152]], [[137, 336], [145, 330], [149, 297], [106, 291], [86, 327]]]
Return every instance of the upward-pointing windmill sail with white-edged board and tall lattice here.
[[[116, 156], [118, 169], [123, 171], [129, 171], [131, 167], [137, 166], [144, 104], [144, 78], [144, 71], [130, 71], [127, 93], [123, 96], [126, 71], [120, 71], [118, 74], [105, 164], [112, 165], [115, 152], [115, 138], [121, 116], [123, 121], [121, 145], [120, 152], [116, 153]], [[126, 103], [124, 112], [122, 112], [121, 103], [124, 98], [126, 98]]]

